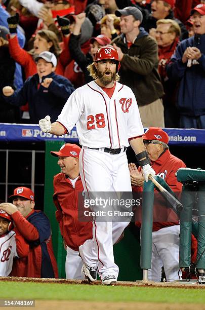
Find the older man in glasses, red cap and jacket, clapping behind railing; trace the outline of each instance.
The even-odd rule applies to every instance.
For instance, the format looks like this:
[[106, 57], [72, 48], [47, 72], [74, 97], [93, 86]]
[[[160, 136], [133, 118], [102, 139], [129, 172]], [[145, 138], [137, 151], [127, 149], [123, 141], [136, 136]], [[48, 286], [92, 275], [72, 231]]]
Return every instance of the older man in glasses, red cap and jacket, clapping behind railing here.
[[[177, 181], [175, 173], [186, 167], [183, 161], [169, 151], [169, 136], [161, 128], [150, 127], [142, 136], [152, 168], [156, 175], [163, 178], [176, 193], [181, 192], [182, 184]], [[136, 166], [130, 164], [130, 174], [134, 191], [142, 191], [144, 178]], [[165, 269], [167, 282], [179, 279], [179, 222], [166, 201], [155, 192], [153, 208], [152, 263], [148, 270], [148, 279], [160, 282], [161, 267]], [[141, 214], [136, 213], [136, 225], [141, 226]], [[181, 275], [181, 273], [180, 273]]]

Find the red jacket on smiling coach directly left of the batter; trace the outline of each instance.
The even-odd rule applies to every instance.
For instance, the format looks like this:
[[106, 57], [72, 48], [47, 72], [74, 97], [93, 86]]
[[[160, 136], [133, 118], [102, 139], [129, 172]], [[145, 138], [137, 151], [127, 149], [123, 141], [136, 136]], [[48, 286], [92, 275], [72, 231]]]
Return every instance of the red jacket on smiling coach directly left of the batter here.
[[84, 191], [80, 176], [75, 183], [75, 188], [64, 173], [54, 176], [54, 196], [56, 205], [56, 219], [65, 243], [74, 251], [88, 239], [93, 239], [92, 222], [81, 222], [78, 218], [78, 201], [84, 199]]

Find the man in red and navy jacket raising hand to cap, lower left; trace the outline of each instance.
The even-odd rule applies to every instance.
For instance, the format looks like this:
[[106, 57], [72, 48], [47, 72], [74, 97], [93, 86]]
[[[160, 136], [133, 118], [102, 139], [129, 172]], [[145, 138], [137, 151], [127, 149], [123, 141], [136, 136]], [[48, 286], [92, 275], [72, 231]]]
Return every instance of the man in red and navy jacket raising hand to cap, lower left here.
[[29, 278], [58, 278], [56, 259], [51, 240], [51, 226], [48, 217], [40, 210], [34, 210], [34, 193], [28, 187], [17, 187], [9, 197], [13, 203], [2, 203], [15, 224], [16, 239], [24, 249], [23, 257], [15, 258], [10, 276]]

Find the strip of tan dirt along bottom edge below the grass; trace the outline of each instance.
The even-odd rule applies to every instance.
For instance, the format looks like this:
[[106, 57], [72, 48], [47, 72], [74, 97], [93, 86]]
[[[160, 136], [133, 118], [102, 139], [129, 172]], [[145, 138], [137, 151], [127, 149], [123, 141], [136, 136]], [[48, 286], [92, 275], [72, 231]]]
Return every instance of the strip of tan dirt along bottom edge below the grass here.
[[[65, 300], [36, 300], [35, 310], [193, 310], [194, 303], [150, 303], [150, 302], [91, 302], [91, 301], [65, 301]], [[205, 310], [205, 305], [198, 304], [200, 310]]]

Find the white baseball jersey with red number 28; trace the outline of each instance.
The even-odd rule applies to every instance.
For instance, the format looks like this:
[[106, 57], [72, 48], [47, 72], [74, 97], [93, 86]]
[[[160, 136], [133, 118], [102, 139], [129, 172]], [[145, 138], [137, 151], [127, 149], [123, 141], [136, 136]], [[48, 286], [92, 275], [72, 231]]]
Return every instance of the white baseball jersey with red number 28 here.
[[76, 124], [79, 143], [92, 148], [122, 148], [144, 134], [135, 95], [118, 82], [111, 99], [94, 81], [76, 89], [57, 122], [68, 132]]

